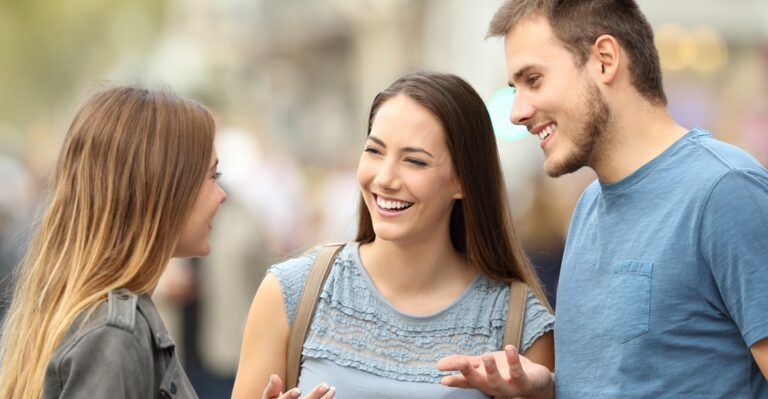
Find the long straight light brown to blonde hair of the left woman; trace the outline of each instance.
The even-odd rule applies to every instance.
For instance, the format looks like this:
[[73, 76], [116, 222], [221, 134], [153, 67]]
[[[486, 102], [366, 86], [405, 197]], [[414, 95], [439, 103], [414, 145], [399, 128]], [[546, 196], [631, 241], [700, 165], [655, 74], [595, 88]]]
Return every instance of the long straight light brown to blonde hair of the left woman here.
[[209, 168], [214, 131], [207, 108], [168, 91], [116, 87], [85, 102], [19, 267], [0, 398], [39, 398], [63, 335], [109, 291], [154, 289]]

